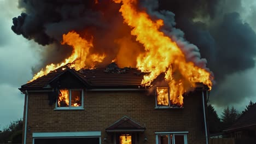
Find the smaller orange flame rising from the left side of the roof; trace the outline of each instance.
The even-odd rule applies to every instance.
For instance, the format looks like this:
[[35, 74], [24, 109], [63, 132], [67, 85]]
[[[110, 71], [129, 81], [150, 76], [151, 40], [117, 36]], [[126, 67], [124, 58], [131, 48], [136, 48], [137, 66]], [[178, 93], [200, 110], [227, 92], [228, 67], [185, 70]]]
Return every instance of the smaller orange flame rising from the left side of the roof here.
[[[69, 67], [75, 68], [75, 70], [79, 70], [85, 68], [86, 59], [88, 58], [89, 50], [94, 47], [92, 45], [92, 40], [88, 41], [80, 37], [76, 32], [68, 32], [67, 34], [63, 34], [63, 41], [61, 43], [68, 44], [73, 47], [72, 55], [65, 59], [62, 63], [59, 64], [49, 64], [46, 65], [45, 69], [40, 70], [37, 74], [34, 75], [33, 79], [28, 81], [31, 82], [33, 80], [38, 79], [43, 75], [50, 73], [50, 71], [58, 69], [68, 63], [72, 63]], [[106, 55], [98, 55], [92, 54], [89, 59], [91, 62], [90, 67], [94, 66], [95, 62], [102, 62]]]

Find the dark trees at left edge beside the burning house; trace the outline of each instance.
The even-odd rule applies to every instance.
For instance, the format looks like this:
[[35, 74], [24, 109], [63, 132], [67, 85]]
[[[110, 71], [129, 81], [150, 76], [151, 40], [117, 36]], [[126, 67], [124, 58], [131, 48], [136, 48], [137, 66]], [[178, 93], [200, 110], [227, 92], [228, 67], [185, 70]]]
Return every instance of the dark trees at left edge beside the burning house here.
[[7, 143], [12, 141], [14, 143], [22, 142], [22, 128], [23, 120], [18, 119], [17, 121], [11, 122], [8, 127], [5, 127], [0, 133], [0, 143]]

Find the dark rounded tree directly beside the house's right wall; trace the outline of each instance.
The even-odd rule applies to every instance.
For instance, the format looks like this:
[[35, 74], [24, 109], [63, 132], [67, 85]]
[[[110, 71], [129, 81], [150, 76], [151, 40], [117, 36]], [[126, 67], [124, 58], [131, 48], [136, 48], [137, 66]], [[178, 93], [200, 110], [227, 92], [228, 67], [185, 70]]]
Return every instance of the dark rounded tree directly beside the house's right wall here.
[[206, 119], [210, 134], [219, 133], [220, 131], [222, 131], [222, 124], [220, 122], [220, 118], [212, 105], [207, 106]]

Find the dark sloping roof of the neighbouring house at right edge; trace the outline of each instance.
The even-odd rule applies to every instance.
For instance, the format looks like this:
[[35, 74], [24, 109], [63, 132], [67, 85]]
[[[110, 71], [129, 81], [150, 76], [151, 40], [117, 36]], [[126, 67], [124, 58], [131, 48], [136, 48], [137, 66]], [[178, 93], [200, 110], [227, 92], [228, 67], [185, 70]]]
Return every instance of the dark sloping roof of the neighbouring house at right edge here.
[[247, 112], [243, 113], [230, 128], [224, 131], [250, 128], [256, 126], [256, 103]]

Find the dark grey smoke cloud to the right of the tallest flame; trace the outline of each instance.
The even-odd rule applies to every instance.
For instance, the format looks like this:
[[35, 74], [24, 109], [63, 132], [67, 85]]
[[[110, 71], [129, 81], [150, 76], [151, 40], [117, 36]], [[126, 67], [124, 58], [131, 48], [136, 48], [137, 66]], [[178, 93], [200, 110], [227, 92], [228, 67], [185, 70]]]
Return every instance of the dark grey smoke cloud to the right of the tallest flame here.
[[196, 45], [207, 59], [216, 81], [210, 102], [225, 106], [250, 99], [254, 88], [242, 74], [255, 67], [256, 34], [240, 15], [241, 1], [159, 0], [158, 5], [158, 13], [173, 13], [169, 33]]

